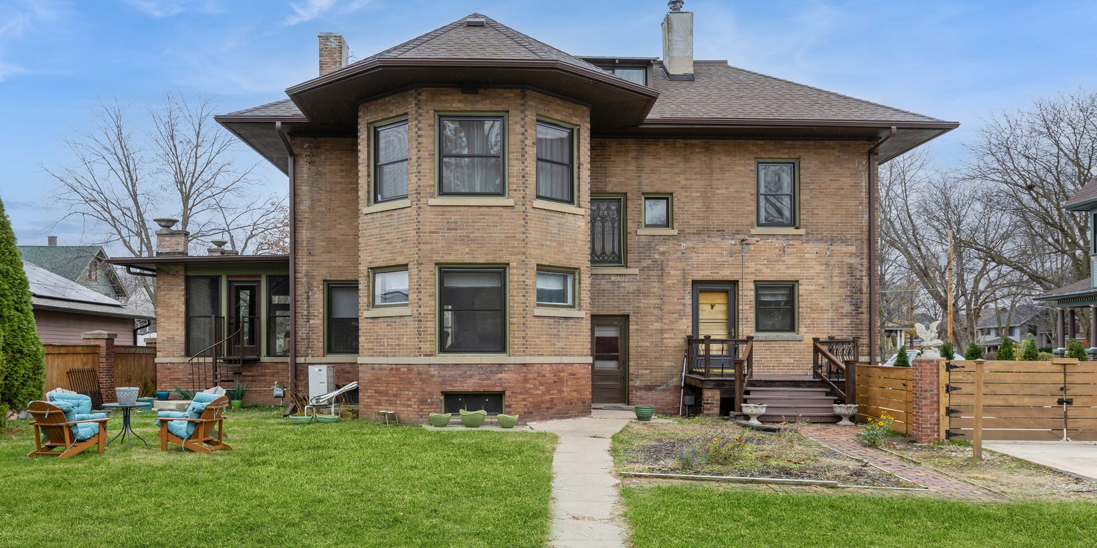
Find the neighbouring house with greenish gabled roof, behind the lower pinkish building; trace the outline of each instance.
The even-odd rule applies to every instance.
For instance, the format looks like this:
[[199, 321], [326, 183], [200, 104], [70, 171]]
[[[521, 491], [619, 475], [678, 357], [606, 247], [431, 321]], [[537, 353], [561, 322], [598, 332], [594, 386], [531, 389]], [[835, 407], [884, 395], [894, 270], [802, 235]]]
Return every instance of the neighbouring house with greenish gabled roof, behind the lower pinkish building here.
[[47, 246], [18, 246], [23, 260], [65, 279], [76, 282], [114, 300], [125, 301], [128, 294], [114, 266], [106, 262], [101, 246], [58, 246], [50, 236]]

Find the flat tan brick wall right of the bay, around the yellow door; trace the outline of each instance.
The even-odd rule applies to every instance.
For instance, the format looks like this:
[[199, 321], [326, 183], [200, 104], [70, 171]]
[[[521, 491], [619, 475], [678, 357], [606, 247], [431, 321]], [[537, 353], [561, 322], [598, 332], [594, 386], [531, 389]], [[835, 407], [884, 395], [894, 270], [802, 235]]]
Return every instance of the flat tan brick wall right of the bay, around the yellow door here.
[[[868, 336], [867, 142], [596, 139], [591, 192], [627, 195], [627, 261], [595, 275], [592, 311], [629, 315], [631, 401], [672, 401], [693, 282], [739, 282], [742, 335], [754, 283], [799, 282], [803, 341], [755, 343], [756, 373], [807, 373], [811, 338]], [[802, 236], [751, 236], [756, 159], [800, 161]], [[674, 193], [677, 236], [637, 236], [643, 193]], [[755, 238], [746, 256], [737, 244]], [[734, 242], [734, 244], [733, 244]], [[862, 345], [866, 346], [866, 345]], [[672, 397], [663, 392], [672, 392]]]

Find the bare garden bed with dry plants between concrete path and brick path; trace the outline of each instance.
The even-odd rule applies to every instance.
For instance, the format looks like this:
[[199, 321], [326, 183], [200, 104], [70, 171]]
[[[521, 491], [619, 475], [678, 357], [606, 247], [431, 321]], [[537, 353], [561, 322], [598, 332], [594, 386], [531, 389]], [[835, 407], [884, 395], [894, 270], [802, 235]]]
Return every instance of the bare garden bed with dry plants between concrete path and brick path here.
[[836, 481], [842, 486], [916, 488], [893, 473], [841, 455], [787, 429], [758, 432], [694, 418], [630, 423], [613, 437], [619, 471]]

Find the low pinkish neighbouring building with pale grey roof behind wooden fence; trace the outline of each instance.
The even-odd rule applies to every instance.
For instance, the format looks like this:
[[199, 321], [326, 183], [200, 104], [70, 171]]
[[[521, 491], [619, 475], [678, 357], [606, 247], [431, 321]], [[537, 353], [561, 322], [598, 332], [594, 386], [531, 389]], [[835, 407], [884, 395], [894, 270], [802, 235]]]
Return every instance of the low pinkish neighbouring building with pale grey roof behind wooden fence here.
[[82, 344], [80, 333], [88, 331], [117, 333], [118, 344], [136, 344], [134, 321], [154, 319], [152, 315], [26, 261], [23, 261], [23, 272], [31, 284], [34, 324], [44, 344]]

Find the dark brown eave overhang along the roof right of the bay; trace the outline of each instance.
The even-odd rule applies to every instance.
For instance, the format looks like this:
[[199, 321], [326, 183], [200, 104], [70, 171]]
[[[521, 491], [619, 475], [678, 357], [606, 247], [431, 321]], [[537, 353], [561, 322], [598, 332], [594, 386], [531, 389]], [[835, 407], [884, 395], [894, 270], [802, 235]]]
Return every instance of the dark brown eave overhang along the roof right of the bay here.
[[957, 122], [648, 118], [636, 127], [620, 128], [597, 136], [879, 141], [895, 127], [895, 136], [880, 146], [880, 162], [883, 163], [959, 126]]

